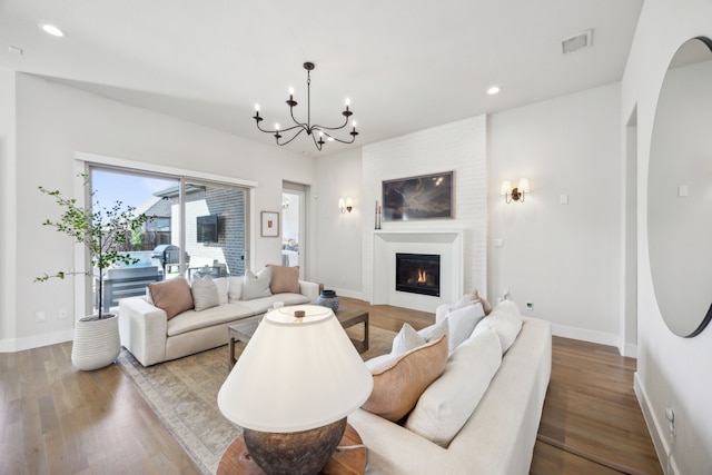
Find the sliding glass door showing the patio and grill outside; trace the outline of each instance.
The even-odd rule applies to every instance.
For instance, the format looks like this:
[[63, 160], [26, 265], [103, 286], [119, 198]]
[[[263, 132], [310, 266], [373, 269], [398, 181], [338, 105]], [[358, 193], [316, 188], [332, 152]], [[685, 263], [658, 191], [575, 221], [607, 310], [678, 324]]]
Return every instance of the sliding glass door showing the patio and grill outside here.
[[105, 270], [105, 310], [116, 307], [119, 298], [144, 295], [151, 281], [177, 275], [191, 280], [245, 274], [246, 188], [99, 166], [90, 167], [90, 180], [92, 206], [132, 207], [149, 216], [144, 229], [131, 236], [130, 249], [119, 249], [137, 261]]

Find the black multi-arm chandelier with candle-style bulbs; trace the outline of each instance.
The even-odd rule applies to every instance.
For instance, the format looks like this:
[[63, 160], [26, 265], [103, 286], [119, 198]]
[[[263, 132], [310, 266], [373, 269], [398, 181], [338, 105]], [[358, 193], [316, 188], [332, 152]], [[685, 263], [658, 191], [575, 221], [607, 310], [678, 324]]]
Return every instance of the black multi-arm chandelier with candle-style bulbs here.
[[[290, 141], [296, 139], [301, 132], [307, 132], [308, 136], [312, 136], [312, 139], [314, 140], [314, 145], [319, 151], [322, 150], [322, 147], [324, 146], [324, 144], [326, 144], [325, 139], [329, 141], [336, 140], [342, 144], [354, 144], [354, 140], [356, 140], [356, 136], [358, 135], [358, 132], [356, 131], [355, 120], [352, 121], [352, 131], [348, 132], [348, 135], [352, 136], [350, 140], [342, 140], [332, 135], [334, 130], [339, 130], [346, 127], [348, 125], [348, 118], [352, 117], [352, 115], [354, 113], [350, 110], [348, 110], [348, 106], [350, 105], [350, 101], [348, 99], [346, 99], [346, 109], [344, 109], [344, 111], [342, 112], [342, 116], [344, 116], [344, 123], [342, 123], [338, 127], [325, 127], [325, 126], [312, 123], [312, 71], [314, 70], [314, 68], [316, 68], [316, 66], [313, 62], [304, 63], [304, 69], [307, 70], [307, 121], [306, 123], [299, 122], [294, 117], [294, 108], [297, 107], [297, 101], [294, 100], [293, 88], [289, 88], [289, 99], [286, 101], [287, 106], [289, 106], [289, 115], [291, 116], [291, 120], [295, 122], [295, 125], [289, 128], [283, 129], [279, 127], [279, 123], [275, 123], [274, 130], [263, 129], [259, 126], [259, 122], [261, 122], [265, 119], [259, 116], [259, 105], [255, 106], [255, 116], [253, 117], [253, 119], [255, 119], [255, 122], [257, 123], [257, 128], [265, 133], [271, 133], [275, 137], [275, 140], [277, 141], [278, 146], [285, 146], [289, 144]], [[290, 136], [290, 138], [280, 140], [283, 139], [283, 133], [285, 136], [287, 135]]]

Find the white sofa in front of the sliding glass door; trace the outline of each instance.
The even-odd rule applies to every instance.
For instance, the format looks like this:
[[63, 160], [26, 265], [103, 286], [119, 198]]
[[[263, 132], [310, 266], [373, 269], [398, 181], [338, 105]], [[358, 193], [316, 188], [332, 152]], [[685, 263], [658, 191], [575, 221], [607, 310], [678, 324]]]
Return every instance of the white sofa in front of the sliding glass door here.
[[[248, 275], [251, 273], [248, 271]], [[119, 300], [121, 345], [141, 365], [150, 366], [227, 344], [229, 325], [261, 315], [276, 301], [285, 306], [314, 304], [319, 296], [319, 284], [303, 280], [298, 280], [298, 293], [273, 294], [268, 290], [257, 297], [254, 293], [251, 296], [245, 295], [243, 277], [220, 278], [214, 283], [219, 288], [219, 305], [202, 309], [195, 295], [195, 307], [170, 318], [164, 308], [154, 305], [149, 291], [142, 297]], [[195, 290], [195, 281], [192, 287]]]

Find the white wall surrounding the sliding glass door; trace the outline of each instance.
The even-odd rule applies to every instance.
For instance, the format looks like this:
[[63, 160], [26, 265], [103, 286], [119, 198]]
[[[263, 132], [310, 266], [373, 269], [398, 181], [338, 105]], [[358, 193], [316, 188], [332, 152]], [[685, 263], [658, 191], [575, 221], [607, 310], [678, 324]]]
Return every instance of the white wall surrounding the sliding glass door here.
[[[75, 155], [90, 152], [158, 166], [199, 170], [216, 176], [258, 182], [254, 192], [254, 212], [279, 210], [284, 179], [312, 184], [314, 159], [263, 146], [194, 123], [129, 107], [85, 91], [17, 75], [17, 154], [8, 157], [17, 167], [21, 186], [2, 189], [2, 201], [17, 209], [17, 244], [3, 248], [6, 263], [17, 256], [17, 266], [4, 265], [17, 289], [9, 293], [16, 311], [2, 318], [14, 319], [14, 335], [4, 335], [0, 349], [23, 348], [71, 338], [72, 318], [58, 319], [59, 308], [77, 316], [71, 281], [32, 284], [44, 271], [68, 269], [73, 264], [69, 238], [41, 226], [47, 217], [58, 216], [56, 205], [37, 189], [39, 185], [71, 192], [76, 187]], [[255, 217], [253, 217], [255, 220]], [[251, 267], [280, 261], [281, 241], [260, 238], [251, 244]], [[4, 291], [4, 288], [3, 288]], [[8, 308], [10, 304], [4, 304]], [[44, 310], [47, 323], [34, 321], [34, 313]], [[3, 325], [4, 326], [4, 325]]]

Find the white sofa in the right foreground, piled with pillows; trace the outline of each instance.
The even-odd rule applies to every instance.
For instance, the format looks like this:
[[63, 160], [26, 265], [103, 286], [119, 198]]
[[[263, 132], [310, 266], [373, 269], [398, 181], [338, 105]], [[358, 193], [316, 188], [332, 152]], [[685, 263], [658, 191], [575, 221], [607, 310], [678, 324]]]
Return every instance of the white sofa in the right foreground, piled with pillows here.
[[[484, 389], [479, 402], [476, 403], [474, 410], [467, 413], [469, 416], [464, 414], [464, 418], [462, 418], [462, 414], [457, 415], [466, 422], [459, 431], [455, 432], [456, 435], [449, 444], [441, 443], [438, 445], [407, 428], [415, 425], [411, 419], [417, 406], [407, 416], [407, 423], [400, 420], [400, 424], [387, 420], [363, 408], [348, 416], [348, 422], [358, 431], [364, 444], [368, 447], [367, 474], [528, 474], [551, 376], [551, 324], [541, 319], [522, 317], [518, 315], [516, 306], [513, 309], [512, 305], [507, 301], [503, 307], [497, 306], [490, 317], [496, 316], [498, 311], [515, 311], [522, 324], [521, 330], [514, 335], [513, 344], [502, 355], [501, 364], [498, 368], [495, 368], [496, 373], [488, 385], [485, 382], [483, 388], [486, 389]], [[504, 320], [508, 318], [505, 316]], [[483, 333], [478, 331], [483, 324], [488, 326], [487, 320], [476, 324], [475, 331], [463, 343], [463, 347], [474, 338], [486, 337], [476, 335]], [[507, 325], [508, 323], [505, 321], [504, 326]], [[487, 331], [491, 330], [497, 331], [498, 329], [490, 327]], [[497, 336], [502, 337], [500, 334]], [[481, 345], [481, 343], [474, 343], [475, 346]], [[496, 338], [495, 345], [497, 345]], [[500, 348], [502, 346], [498, 345]], [[443, 384], [439, 384], [436, 394], [448, 394], [448, 392], [453, 394], [453, 392], [461, 390], [459, 385], [467, 384], [466, 379], [476, 377], [471, 368], [466, 370], [459, 368], [458, 373], [453, 373], [457, 375], [456, 378], [445, 378], [448, 372], [456, 370], [457, 365], [473, 363], [467, 363], [466, 358], [462, 357], [463, 354], [459, 355], [459, 358], [454, 357], [458, 350], [459, 348], [455, 349], [455, 353], [451, 353], [445, 373], [423, 393], [418, 405], [427, 392], [432, 390], [438, 382], [455, 385], [455, 387], [444, 388]], [[478, 349], [472, 353], [471, 348], [471, 353], [467, 355], [473, 355], [471, 359], [481, 358], [482, 356], [477, 356], [477, 352]], [[496, 358], [500, 356], [496, 355]], [[491, 375], [487, 376], [487, 378], [490, 377]], [[433, 413], [439, 413], [441, 416], [443, 414], [447, 416], [448, 412], [453, 413], [448, 400], [442, 403], [439, 406], [431, 406], [428, 410], [425, 410], [427, 413], [425, 415], [432, 418], [434, 417]], [[446, 427], [448, 424], [445, 422], [442, 426]], [[437, 431], [439, 428], [436, 428]]]

